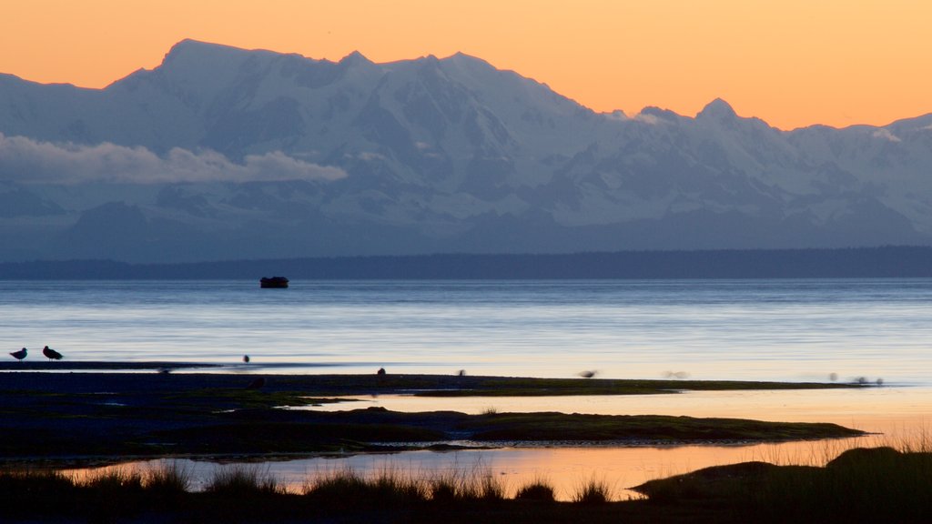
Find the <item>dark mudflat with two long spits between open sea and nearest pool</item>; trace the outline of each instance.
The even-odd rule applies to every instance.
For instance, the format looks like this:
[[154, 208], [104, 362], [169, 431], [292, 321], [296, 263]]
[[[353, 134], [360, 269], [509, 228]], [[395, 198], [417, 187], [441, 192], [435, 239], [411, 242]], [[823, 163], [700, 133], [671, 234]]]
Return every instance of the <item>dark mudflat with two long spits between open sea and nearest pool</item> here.
[[[14, 363], [15, 364], [15, 363]], [[57, 363], [50, 363], [57, 364]], [[161, 372], [151, 372], [158, 368]], [[828, 423], [666, 416], [287, 409], [340, 395], [674, 394], [848, 384], [528, 379], [436, 375], [256, 375], [143, 372], [0, 373], [0, 459], [117, 462], [133, 457], [274, 456], [448, 448], [763, 442], [847, 437]]]

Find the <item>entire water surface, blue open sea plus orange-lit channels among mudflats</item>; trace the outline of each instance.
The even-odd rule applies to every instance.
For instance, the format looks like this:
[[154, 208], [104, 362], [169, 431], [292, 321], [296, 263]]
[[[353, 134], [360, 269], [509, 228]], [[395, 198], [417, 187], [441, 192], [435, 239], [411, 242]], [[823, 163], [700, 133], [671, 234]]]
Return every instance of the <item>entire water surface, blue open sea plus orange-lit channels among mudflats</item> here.
[[[572, 498], [590, 479], [616, 498], [647, 480], [744, 461], [821, 465], [845, 448], [932, 434], [932, 280], [4, 282], [0, 342], [73, 361], [179, 361], [251, 373], [851, 381], [858, 390], [665, 395], [356, 397], [327, 409], [668, 414], [828, 421], [843, 441], [414, 451], [247, 464], [293, 490], [351, 468], [431, 477], [479, 472], [508, 490], [545, 478]], [[0, 353], [2, 354], [2, 353]], [[243, 364], [242, 356], [250, 355]], [[12, 357], [10, 357], [12, 360]], [[2, 380], [2, 375], [0, 375]], [[878, 385], [881, 382], [881, 385]], [[146, 469], [165, 462], [117, 467]], [[182, 460], [196, 487], [230, 464]], [[234, 464], [235, 465], [235, 464]], [[76, 470], [77, 476], [96, 470]]]

